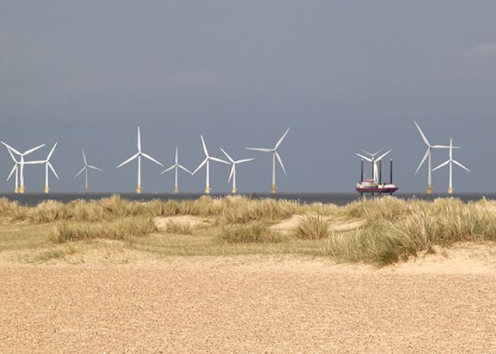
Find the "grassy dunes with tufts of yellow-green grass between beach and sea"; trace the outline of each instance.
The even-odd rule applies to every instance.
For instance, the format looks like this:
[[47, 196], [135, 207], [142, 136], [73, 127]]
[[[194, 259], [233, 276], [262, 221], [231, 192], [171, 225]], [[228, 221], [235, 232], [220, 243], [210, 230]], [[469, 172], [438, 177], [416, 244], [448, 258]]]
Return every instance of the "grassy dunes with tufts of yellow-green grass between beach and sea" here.
[[[188, 217], [167, 219], [176, 215]], [[300, 216], [289, 228], [278, 226], [294, 215]], [[157, 217], [166, 218], [160, 230]], [[0, 198], [0, 258], [19, 254], [35, 262], [118, 249], [156, 256], [289, 253], [385, 265], [432, 252], [435, 246], [494, 241], [496, 202], [490, 200], [386, 197], [337, 207], [244, 197], [133, 202], [113, 196], [25, 207]]]

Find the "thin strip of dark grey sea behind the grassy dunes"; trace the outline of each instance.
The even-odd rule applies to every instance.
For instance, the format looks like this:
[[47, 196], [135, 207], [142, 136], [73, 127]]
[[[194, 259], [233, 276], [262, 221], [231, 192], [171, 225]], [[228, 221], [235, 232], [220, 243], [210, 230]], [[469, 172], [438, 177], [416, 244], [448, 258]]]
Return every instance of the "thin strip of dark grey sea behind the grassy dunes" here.
[[[201, 193], [150, 193], [150, 194], [140, 194], [135, 193], [26, 193], [26, 194], [14, 194], [6, 193], [0, 194], [2, 197], [6, 197], [9, 200], [17, 200], [23, 205], [37, 205], [43, 200], [58, 200], [60, 202], [70, 202], [72, 200], [84, 199], [84, 200], [99, 200], [101, 198], [108, 198], [113, 194], [118, 194], [120, 197], [128, 200], [186, 200], [186, 199], [196, 199], [200, 198], [203, 194]], [[227, 194], [211, 194], [213, 198], [220, 198]], [[242, 194], [250, 198], [253, 197], [252, 194]], [[424, 200], [434, 200], [435, 198], [448, 198], [454, 197], [463, 200], [463, 202], [480, 200], [482, 198], [496, 200], [496, 193], [456, 193], [453, 195], [434, 193], [428, 195], [425, 193], [395, 193], [395, 197], [402, 198], [405, 200], [411, 198], [419, 198]], [[276, 199], [288, 199], [296, 200], [302, 203], [310, 202], [324, 202], [332, 203], [336, 205], [346, 205], [355, 200], [359, 200], [361, 197], [359, 193], [278, 193], [276, 195], [271, 195], [269, 193], [257, 193], [257, 198], [276, 198]], [[370, 198], [370, 197], [368, 197]]]

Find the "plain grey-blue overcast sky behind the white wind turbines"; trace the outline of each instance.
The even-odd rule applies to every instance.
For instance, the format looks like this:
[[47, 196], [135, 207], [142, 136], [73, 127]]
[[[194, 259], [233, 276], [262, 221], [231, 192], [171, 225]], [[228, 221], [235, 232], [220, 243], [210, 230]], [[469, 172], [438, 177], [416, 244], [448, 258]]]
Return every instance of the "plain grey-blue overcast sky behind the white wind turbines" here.
[[[425, 152], [414, 120], [432, 144], [462, 147], [456, 192], [495, 192], [495, 1], [23, 1], [0, 4], [0, 139], [43, 159], [58, 142], [54, 192], [84, 190], [74, 179], [90, 164], [90, 189], [132, 192], [144, 152], [195, 169], [200, 135], [239, 165], [241, 192], [271, 188], [271, 156], [245, 147], [280, 147], [288, 172], [281, 192], [351, 192], [354, 153], [393, 149], [394, 182], [427, 188]], [[389, 156], [388, 156], [389, 157]], [[433, 167], [448, 159], [433, 153]], [[13, 162], [0, 149], [0, 192]], [[142, 163], [145, 192], [170, 192], [174, 173]], [[230, 166], [210, 166], [213, 192], [227, 192]], [[366, 171], [369, 171], [366, 168]], [[388, 169], [383, 173], [388, 175]], [[205, 173], [180, 174], [201, 192]], [[448, 189], [448, 169], [432, 173]], [[43, 166], [26, 168], [26, 190], [42, 191]]]

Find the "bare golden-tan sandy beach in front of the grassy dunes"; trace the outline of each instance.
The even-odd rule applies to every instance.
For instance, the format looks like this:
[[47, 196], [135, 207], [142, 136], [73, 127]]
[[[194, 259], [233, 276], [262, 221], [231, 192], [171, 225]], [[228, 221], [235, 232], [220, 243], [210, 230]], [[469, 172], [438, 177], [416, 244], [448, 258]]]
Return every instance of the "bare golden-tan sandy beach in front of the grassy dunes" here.
[[3, 262], [0, 353], [496, 352], [493, 252], [381, 269], [293, 256]]

